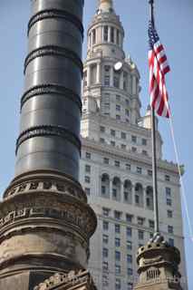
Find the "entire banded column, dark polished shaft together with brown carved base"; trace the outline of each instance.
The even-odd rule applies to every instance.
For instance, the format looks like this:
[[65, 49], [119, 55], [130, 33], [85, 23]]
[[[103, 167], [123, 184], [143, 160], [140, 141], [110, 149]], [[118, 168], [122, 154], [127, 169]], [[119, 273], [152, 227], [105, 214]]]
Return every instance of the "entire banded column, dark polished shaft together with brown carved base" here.
[[79, 184], [83, 0], [33, 0], [15, 178], [0, 204], [0, 289], [87, 267], [95, 214]]

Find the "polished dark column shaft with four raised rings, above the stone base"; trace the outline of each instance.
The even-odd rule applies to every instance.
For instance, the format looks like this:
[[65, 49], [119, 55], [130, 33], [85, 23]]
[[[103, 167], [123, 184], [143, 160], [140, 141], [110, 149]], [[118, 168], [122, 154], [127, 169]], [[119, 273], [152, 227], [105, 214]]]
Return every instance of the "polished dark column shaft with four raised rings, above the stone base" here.
[[53, 169], [78, 179], [83, 1], [32, 1], [15, 175]]

